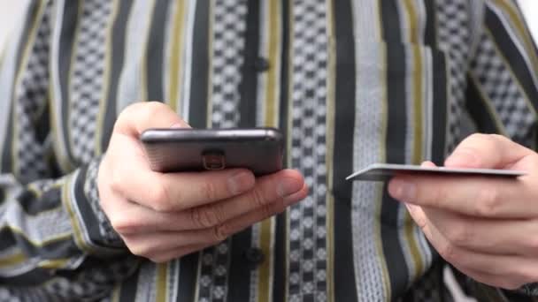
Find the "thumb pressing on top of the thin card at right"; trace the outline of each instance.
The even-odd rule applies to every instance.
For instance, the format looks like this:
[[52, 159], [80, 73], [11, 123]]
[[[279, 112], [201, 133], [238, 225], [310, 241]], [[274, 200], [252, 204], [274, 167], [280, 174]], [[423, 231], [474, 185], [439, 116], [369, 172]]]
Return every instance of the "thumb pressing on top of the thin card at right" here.
[[503, 169], [534, 152], [496, 134], [473, 134], [444, 162], [451, 168]]

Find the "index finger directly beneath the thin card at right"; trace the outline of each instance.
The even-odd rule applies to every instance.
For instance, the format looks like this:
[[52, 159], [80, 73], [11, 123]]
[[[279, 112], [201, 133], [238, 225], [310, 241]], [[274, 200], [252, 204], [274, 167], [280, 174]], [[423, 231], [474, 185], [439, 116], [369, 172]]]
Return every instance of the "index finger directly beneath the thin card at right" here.
[[398, 176], [388, 184], [396, 200], [488, 218], [528, 218], [538, 214], [533, 186], [525, 177]]

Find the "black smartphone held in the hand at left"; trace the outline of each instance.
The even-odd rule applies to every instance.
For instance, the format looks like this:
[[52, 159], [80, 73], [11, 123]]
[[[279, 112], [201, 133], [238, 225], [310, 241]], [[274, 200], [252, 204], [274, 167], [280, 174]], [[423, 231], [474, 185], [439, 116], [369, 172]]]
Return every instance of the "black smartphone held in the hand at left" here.
[[140, 140], [158, 172], [244, 168], [261, 176], [283, 166], [284, 138], [275, 128], [149, 129]]

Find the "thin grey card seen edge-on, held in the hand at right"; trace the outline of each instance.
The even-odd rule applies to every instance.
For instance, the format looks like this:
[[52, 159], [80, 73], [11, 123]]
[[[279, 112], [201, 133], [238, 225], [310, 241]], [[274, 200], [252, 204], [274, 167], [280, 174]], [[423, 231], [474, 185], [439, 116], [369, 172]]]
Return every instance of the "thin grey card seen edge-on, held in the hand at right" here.
[[525, 171], [518, 170], [498, 170], [498, 169], [461, 169], [445, 167], [420, 167], [411, 164], [396, 163], [373, 163], [363, 170], [359, 170], [346, 180], [365, 180], [365, 181], [386, 181], [396, 175], [458, 175], [463, 177], [482, 176], [482, 177], [521, 177], [526, 175]]

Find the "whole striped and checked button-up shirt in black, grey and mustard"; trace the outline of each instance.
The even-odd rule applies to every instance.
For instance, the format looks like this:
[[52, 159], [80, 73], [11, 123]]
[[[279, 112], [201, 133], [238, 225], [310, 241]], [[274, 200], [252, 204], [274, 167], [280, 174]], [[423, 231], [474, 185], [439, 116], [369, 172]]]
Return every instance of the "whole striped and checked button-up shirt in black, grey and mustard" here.
[[[466, 116], [536, 139], [538, 56], [509, 0], [34, 0], [1, 56], [2, 301], [450, 300], [386, 184], [344, 178], [442, 164]], [[135, 257], [96, 174], [140, 100], [194, 127], [280, 128], [308, 197], [199, 253]]]

